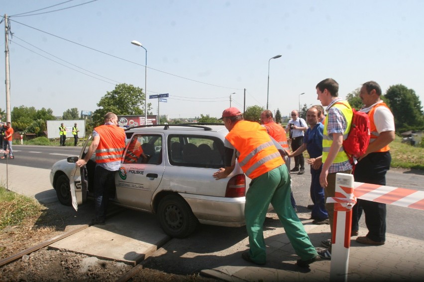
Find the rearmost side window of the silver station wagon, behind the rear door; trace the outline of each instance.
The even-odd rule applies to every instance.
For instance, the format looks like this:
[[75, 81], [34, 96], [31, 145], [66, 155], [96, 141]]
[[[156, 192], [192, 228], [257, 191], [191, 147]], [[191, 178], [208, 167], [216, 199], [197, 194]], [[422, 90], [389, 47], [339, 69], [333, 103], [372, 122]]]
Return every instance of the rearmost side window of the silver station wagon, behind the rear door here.
[[168, 159], [171, 165], [219, 168], [223, 165], [223, 142], [211, 136], [170, 135]]

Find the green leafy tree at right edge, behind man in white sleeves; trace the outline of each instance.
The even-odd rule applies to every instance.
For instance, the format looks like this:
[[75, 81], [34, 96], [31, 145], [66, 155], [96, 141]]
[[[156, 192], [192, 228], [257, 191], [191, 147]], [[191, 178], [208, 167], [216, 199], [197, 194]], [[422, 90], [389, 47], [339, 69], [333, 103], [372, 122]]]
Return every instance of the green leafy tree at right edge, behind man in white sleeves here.
[[413, 89], [397, 84], [387, 89], [384, 95], [390, 103], [395, 127], [398, 132], [424, 129], [424, 113], [420, 98]]

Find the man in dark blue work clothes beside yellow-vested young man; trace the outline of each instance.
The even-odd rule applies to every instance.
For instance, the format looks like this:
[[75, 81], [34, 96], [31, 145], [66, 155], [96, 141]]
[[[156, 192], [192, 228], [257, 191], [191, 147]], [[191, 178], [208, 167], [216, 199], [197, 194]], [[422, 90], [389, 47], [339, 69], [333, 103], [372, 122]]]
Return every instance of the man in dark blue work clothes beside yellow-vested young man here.
[[310, 128], [305, 133], [303, 144], [294, 152], [289, 154], [289, 157], [294, 157], [308, 150], [310, 159], [308, 164], [311, 165], [311, 199], [314, 203], [312, 208], [311, 218], [313, 224], [329, 224], [328, 212], [325, 209], [324, 190], [319, 184], [319, 174], [322, 168], [322, 132], [324, 126], [318, 122], [318, 110], [310, 108], [306, 114], [306, 119]]

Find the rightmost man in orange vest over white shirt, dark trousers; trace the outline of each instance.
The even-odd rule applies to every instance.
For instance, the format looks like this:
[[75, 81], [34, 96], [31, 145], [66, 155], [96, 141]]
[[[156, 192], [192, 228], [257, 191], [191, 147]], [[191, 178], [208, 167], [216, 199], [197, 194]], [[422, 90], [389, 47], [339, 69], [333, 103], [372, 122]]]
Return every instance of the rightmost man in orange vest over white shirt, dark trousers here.
[[[359, 97], [364, 103], [361, 112], [370, 118], [371, 138], [367, 151], [361, 156], [353, 173], [356, 182], [386, 185], [386, 172], [392, 160], [389, 144], [395, 140], [395, 121], [389, 107], [381, 99], [381, 88], [375, 81], [362, 85]], [[366, 236], [356, 238], [356, 242], [365, 245], [383, 245], [386, 241], [386, 204], [361, 200], [353, 207], [352, 233], [358, 234], [358, 211], [363, 209]]]

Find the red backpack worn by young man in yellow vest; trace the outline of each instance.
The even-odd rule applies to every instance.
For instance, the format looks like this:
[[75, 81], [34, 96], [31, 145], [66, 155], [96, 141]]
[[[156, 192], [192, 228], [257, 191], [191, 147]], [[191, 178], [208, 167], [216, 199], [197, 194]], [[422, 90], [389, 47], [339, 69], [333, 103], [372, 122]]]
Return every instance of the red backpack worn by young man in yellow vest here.
[[[343, 102], [338, 104], [346, 105]], [[350, 106], [349, 106], [350, 108]], [[349, 157], [351, 164], [355, 165], [357, 159], [365, 154], [370, 142], [370, 119], [367, 113], [352, 109], [353, 116], [350, 124], [350, 131], [345, 140], [343, 140], [343, 148]]]

